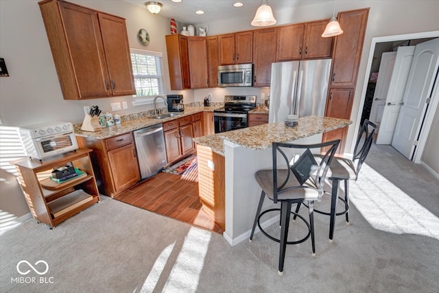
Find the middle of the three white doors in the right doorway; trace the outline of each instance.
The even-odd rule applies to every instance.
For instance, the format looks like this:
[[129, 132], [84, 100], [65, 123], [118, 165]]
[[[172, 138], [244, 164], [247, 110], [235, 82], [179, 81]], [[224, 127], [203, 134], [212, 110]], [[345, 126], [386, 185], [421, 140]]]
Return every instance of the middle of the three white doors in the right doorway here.
[[399, 47], [390, 79], [389, 91], [385, 99], [383, 118], [379, 125], [377, 144], [390, 145], [398, 121], [405, 85], [409, 77], [415, 46]]

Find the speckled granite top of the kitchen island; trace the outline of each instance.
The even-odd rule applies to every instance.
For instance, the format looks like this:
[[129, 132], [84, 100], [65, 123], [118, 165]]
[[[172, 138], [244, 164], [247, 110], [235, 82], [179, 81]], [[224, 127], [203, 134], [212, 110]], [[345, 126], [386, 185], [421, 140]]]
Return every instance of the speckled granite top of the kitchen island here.
[[308, 116], [299, 118], [298, 125], [294, 127], [285, 126], [285, 123], [282, 121], [198, 137], [193, 139], [193, 141], [207, 146], [213, 152], [224, 156], [224, 140], [242, 145], [244, 148], [251, 150], [264, 150], [271, 148], [273, 141], [294, 141], [304, 137], [311, 137], [314, 134], [342, 128], [350, 124], [352, 124], [352, 121], [346, 119]]

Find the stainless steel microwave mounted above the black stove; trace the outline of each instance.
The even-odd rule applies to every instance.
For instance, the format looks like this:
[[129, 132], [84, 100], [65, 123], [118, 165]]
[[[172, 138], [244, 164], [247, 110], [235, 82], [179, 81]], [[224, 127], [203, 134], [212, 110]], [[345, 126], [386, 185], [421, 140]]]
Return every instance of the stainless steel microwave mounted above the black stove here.
[[252, 86], [253, 65], [237, 64], [218, 67], [218, 86]]

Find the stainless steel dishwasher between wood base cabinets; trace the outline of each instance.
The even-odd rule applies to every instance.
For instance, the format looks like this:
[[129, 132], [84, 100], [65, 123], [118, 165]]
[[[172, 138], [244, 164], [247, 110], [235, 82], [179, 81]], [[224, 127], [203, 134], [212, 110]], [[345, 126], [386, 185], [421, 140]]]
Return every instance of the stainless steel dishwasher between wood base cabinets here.
[[133, 134], [141, 178], [157, 174], [167, 164], [162, 124], [135, 130]]

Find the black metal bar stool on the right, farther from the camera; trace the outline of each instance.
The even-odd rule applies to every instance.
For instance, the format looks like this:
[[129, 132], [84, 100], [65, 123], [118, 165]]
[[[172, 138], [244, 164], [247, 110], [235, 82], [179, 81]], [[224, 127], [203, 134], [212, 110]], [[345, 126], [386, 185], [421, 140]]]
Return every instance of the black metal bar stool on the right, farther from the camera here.
[[[359, 170], [366, 161], [370, 146], [372, 145], [373, 135], [377, 130], [377, 126], [370, 122], [368, 119], [364, 120], [361, 130], [359, 131], [357, 141], [355, 143], [353, 159], [346, 159], [335, 156], [331, 167], [327, 174], [329, 183], [331, 186], [331, 211], [324, 212], [314, 209], [316, 213], [323, 215], [329, 215], [329, 242], [333, 242], [335, 217], [337, 215], [346, 215], [346, 224], [349, 224], [349, 180], [357, 180]], [[321, 156], [317, 156], [319, 160]], [[344, 181], [344, 198], [338, 196], [338, 187], [340, 181]], [[337, 199], [341, 200], [344, 204], [344, 210], [337, 213]], [[300, 209], [300, 204], [296, 207], [296, 212]], [[294, 220], [296, 217], [294, 217]]]

